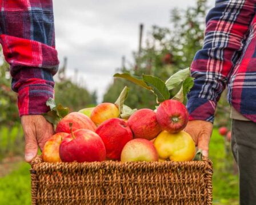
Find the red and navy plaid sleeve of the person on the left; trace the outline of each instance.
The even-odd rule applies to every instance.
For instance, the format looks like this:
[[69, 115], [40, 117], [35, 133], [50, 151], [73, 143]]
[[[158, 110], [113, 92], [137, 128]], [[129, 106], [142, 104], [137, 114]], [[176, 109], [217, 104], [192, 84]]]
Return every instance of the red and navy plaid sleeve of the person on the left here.
[[45, 113], [59, 64], [52, 0], [2, 0], [0, 8], [0, 43], [18, 92], [19, 114]]

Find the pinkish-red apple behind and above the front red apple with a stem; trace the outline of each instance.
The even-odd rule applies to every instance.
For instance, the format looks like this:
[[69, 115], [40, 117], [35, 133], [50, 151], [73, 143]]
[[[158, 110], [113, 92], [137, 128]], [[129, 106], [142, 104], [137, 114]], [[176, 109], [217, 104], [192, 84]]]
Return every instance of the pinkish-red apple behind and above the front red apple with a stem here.
[[67, 114], [67, 116], [63, 117], [62, 120], [59, 121], [55, 132], [70, 133], [70, 123], [73, 124], [73, 131], [78, 129], [89, 129], [92, 131], [96, 130], [95, 124], [93, 123], [93, 121], [91, 121], [89, 117], [79, 112], [72, 112]]

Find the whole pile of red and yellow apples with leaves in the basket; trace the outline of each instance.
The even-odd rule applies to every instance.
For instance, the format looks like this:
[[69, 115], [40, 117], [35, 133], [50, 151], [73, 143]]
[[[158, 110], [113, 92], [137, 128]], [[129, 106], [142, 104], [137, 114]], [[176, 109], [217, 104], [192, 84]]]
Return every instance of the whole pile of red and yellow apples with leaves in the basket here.
[[47, 101], [46, 120], [55, 134], [46, 142], [45, 162], [191, 161], [201, 160], [191, 136], [184, 132], [189, 114], [183, 101], [193, 87], [190, 69], [171, 76], [166, 82], [150, 75], [117, 73], [157, 97], [155, 110], [132, 109], [125, 105], [129, 88], [123, 88], [115, 103], [101, 103], [69, 113], [69, 109]]

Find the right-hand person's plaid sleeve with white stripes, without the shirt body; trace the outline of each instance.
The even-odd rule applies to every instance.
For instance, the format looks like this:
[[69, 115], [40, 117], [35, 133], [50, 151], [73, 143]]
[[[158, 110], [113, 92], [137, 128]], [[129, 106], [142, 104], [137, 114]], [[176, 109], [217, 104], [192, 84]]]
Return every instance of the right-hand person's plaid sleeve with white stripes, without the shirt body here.
[[217, 102], [241, 56], [254, 15], [255, 1], [251, 0], [219, 0], [209, 11], [203, 48], [191, 64], [190, 120], [214, 121]]

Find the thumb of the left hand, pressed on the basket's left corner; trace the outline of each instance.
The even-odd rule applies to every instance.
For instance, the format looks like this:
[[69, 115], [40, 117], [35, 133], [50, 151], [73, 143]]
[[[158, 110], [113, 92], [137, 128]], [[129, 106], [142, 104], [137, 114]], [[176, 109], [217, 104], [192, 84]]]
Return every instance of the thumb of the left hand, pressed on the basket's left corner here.
[[25, 161], [31, 162], [37, 155], [38, 146], [36, 137], [33, 134], [25, 135]]

